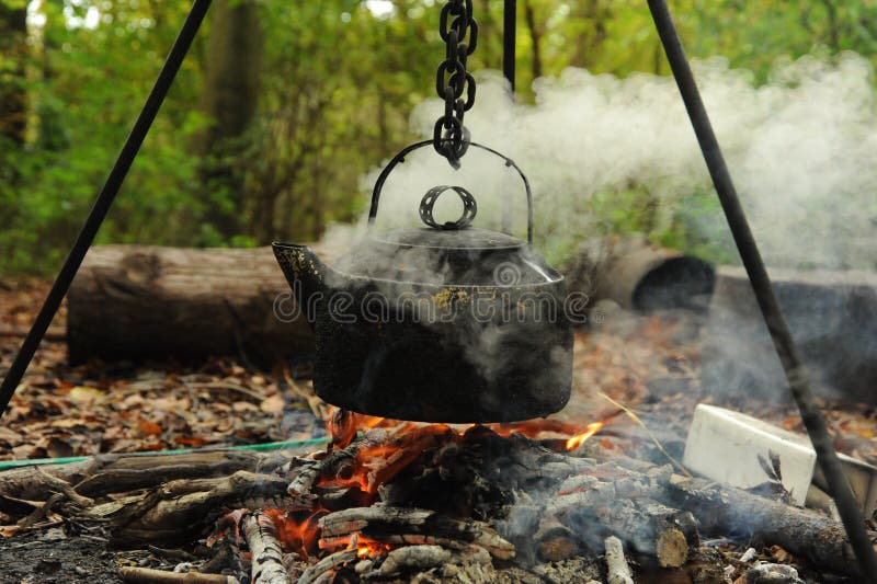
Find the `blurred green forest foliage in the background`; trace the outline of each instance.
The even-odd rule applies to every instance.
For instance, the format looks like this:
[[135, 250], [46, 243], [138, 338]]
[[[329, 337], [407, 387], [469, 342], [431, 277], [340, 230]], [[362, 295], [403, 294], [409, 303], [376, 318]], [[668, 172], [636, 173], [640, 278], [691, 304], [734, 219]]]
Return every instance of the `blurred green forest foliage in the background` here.
[[[413, 137], [409, 114], [432, 96], [443, 50], [436, 32], [441, 2], [395, 0], [390, 14], [378, 14], [357, 0], [231, 1], [259, 7], [263, 55], [254, 118], [230, 148], [196, 153], [212, 123], [202, 113], [208, 19], [100, 242], [254, 245], [314, 239], [328, 224], [363, 210], [361, 176]], [[0, 0], [7, 9], [0, 21], [8, 9], [24, 4]], [[57, 270], [189, 9], [189, 2], [155, 0], [30, 4], [26, 54], [0, 43], [3, 84], [27, 103], [23, 144], [3, 135], [0, 119], [0, 273]], [[502, 4], [475, 2], [481, 35], [472, 69], [501, 68]], [[527, 4], [532, 28], [523, 18]], [[519, 8], [522, 99], [532, 99], [534, 41], [544, 75], [570, 65], [619, 76], [668, 73], [645, 2], [529, 0]], [[873, 2], [681, 0], [673, 8], [690, 55], [724, 55], [732, 67], [753, 70], [759, 82], [776, 58], [817, 46], [877, 54]], [[205, 172], [219, 165], [236, 169], [242, 193], [205, 181]], [[702, 234], [704, 221], [719, 217], [710, 193], [681, 194], [669, 214], [656, 209], [642, 185], [602, 193], [589, 205], [603, 232], [641, 232], [729, 260], [722, 256], [727, 242]], [[232, 232], [210, 222], [216, 209], [235, 216]]]

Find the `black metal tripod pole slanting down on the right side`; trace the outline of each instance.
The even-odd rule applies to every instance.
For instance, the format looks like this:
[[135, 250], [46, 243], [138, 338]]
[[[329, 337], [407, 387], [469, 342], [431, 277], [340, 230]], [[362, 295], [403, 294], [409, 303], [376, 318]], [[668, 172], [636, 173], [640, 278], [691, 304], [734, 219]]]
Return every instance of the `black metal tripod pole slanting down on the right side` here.
[[648, 2], [667, 58], [670, 61], [670, 68], [673, 70], [673, 77], [676, 79], [679, 91], [685, 102], [685, 108], [688, 111], [694, 133], [697, 135], [697, 141], [704, 153], [704, 160], [709, 169], [709, 175], [713, 178], [713, 184], [716, 186], [716, 193], [721, 202], [721, 208], [725, 210], [725, 217], [728, 219], [728, 226], [731, 228], [737, 249], [740, 251], [743, 266], [752, 283], [762, 317], [771, 332], [774, 348], [786, 373], [791, 396], [795, 398], [804, 425], [813, 443], [817, 460], [828, 480], [831, 495], [838, 505], [838, 512], [856, 554], [862, 576], [865, 579], [863, 582], [877, 582], [877, 554], [865, 530], [864, 517], [856, 504], [853, 491], [850, 489], [846, 476], [843, 473], [838, 454], [834, 451], [825, 420], [813, 403], [809, 375], [801, 363], [779, 304], [776, 301], [764, 261], [755, 244], [752, 230], [749, 228], [749, 221], [747, 221], [737, 196], [737, 190], [731, 182], [728, 167], [725, 164], [725, 157], [713, 131], [713, 125], [701, 99], [701, 92], [697, 90], [670, 9], [665, 0], [648, 0]]

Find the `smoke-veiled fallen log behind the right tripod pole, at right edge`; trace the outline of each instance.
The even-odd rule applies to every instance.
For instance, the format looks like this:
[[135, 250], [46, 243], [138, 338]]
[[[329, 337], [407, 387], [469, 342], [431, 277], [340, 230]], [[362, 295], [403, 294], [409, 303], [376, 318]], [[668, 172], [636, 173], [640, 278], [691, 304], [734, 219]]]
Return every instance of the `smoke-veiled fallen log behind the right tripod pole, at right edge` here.
[[[877, 405], [877, 273], [771, 268], [771, 282], [815, 391], [829, 398], [840, 391]], [[742, 267], [718, 270], [704, 333], [704, 388], [720, 396], [788, 398]]]

